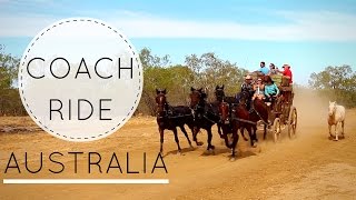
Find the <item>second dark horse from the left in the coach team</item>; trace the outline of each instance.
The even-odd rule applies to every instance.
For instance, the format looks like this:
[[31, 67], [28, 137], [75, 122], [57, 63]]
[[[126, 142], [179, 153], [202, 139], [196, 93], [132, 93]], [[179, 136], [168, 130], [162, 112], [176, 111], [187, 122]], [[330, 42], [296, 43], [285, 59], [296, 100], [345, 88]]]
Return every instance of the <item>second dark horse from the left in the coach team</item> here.
[[220, 121], [218, 108], [207, 102], [207, 94], [202, 91], [202, 88], [195, 89], [191, 87], [190, 91], [190, 109], [194, 113], [192, 140], [197, 143], [197, 146], [202, 146], [202, 142], [197, 140], [197, 133], [200, 129], [205, 129], [208, 134], [207, 150], [214, 151], [215, 147], [211, 144], [211, 127]]

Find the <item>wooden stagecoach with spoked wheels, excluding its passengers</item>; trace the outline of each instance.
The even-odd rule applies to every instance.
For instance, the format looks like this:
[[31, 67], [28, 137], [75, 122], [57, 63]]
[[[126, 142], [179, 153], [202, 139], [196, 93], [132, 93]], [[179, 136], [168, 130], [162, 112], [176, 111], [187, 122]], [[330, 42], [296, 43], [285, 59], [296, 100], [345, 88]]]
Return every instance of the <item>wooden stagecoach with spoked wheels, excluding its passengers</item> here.
[[[254, 74], [255, 78], [260, 74]], [[268, 122], [269, 132], [274, 137], [274, 141], [278, 141], [281, 131], [287, 129], [289, 138], [294, 138], [297, 129], [297, 109], [293, 106], [294, 91], [293, 84], [289, 84], [289, 78], [284, 76], [271, 76], [273, 81], [277, 84], [280, 94], [275, 99], [274, 103], [268, 104]]]

